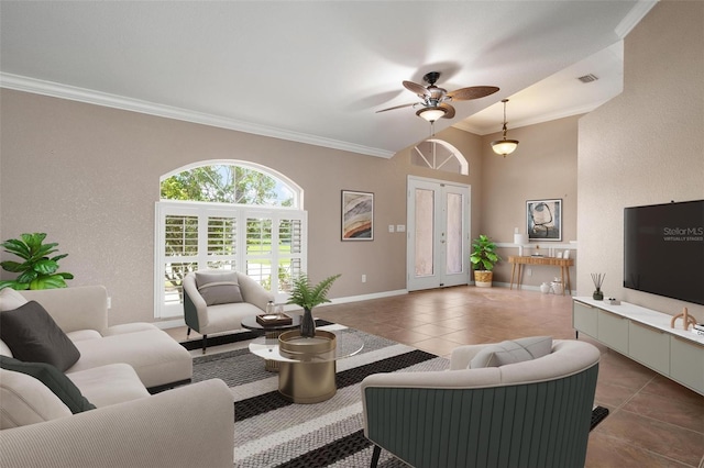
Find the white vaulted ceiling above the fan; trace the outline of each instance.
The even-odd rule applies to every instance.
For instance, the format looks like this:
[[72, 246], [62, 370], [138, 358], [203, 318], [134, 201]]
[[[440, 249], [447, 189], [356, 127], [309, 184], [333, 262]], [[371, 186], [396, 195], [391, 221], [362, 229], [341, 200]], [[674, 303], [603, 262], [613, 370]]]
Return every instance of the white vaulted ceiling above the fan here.
[[[391, 157], [429, 135], [403, 80], [498, 92], [441, 119], [477, 134], [587, 112], [620, 92], [614, 1], [0, 3], [0, 85]], [[578, 77], [596, 75], [583, 85]]]

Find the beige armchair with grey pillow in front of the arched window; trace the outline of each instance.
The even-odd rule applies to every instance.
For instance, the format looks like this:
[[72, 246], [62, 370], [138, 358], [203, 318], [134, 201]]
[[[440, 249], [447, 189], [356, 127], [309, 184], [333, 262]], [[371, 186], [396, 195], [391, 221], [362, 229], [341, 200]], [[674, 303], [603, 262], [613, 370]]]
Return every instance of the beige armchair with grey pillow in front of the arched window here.
[[242, 327], [249, 315], [266, 311], [274, 294], [244, 274], [231, 270], [200, 270], [184, 278], [184, 317], [190, 331], [202, 335], [206, 353], [208, 335]]

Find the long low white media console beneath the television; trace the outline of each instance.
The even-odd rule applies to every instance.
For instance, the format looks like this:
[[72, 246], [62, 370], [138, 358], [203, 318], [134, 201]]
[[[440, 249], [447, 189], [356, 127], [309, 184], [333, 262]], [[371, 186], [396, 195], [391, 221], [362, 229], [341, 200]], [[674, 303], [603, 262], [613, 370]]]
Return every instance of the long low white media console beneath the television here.
[[572, 326], [629, 358], [704, 394], [704, 336], [670, 327], [672, 315], [622, 302], [574, 298]]

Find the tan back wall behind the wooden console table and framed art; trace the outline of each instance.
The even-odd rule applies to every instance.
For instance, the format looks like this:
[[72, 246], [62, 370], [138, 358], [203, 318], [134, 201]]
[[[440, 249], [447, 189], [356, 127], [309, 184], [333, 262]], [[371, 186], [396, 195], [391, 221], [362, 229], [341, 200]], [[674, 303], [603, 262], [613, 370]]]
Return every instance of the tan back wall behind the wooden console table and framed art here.
[[[526, 234], [526, 201], [562, 199], [562, 242], [532, 242], [541, 249], [556, 244], [576, 241], [576, 147], [578, 121], [571, 116], [512, 129], [508, 137], [518, 140], [518, 148], [506, 156], [497, 156], [491, 149], [491, 142], [501, 138], [501, 133], [483, 137], [483, 179], [481, 205], [482, 234], [494, 242], [513, 243], [514, 229]], [[499, 248], [505, 261], [494, 270], [494, 280], [510, 282], [509, 255], [518, 255], [516, 248]], [[574, 255], [574, 250], [571, 252]], [[529, 255], [528, 250], [524, 255]], [[546, 254], [547, 255], [547, 252]], [[548, 266], [531, 266], [524, 272], [522, 285], [537, 288], [541, 282], [550, 282], [560, 276], [560, 269]], [[571, 276], [574, 278], [574, 267]], [[572, 288], [574, 288], [572, 279]]]

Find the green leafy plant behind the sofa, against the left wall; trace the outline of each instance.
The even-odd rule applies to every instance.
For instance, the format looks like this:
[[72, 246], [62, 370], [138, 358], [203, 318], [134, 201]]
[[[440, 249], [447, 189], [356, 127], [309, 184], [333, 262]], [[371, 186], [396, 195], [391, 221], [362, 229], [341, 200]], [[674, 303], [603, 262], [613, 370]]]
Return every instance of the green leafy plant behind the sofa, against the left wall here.
[[66, 280], [74, 279], [69, 272], [57, 272], [58, 260], [68, 254], [51, 254], [58, 252], [57, 243], [44, 244], [45, 233], [22, 234], [21, 238], [10, 238], [2, 244], [4, 252], [14, 254], [24, 261], [0, 261], [6, 271], [19, 274], [13, 280], [0, 281], [0, 289], [55, 289], [66, 288]]

